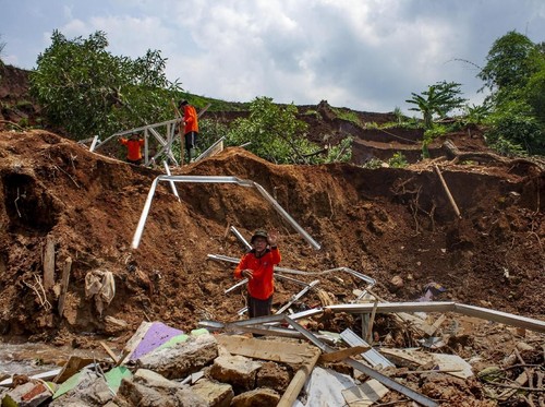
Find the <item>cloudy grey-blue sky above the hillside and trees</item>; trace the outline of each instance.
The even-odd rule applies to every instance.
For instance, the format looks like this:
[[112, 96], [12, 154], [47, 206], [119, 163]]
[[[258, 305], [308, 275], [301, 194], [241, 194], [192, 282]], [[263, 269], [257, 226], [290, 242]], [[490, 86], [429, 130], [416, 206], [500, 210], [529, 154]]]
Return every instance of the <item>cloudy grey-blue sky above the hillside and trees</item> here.
[[32, 69], [53, 29], [158, 49], [191, 93], [391, 111], [437, 81], [480, 103], [479, 70], [517, 31], [545, 41], [545, 0], [0, 0], [4, 62]]

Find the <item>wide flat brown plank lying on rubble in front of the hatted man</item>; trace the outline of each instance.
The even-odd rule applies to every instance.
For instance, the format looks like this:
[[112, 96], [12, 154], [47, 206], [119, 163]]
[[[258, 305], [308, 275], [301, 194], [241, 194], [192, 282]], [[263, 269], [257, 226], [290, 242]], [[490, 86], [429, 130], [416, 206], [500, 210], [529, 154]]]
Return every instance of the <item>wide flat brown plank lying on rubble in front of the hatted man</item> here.
[[308, 345], [280, 340], [264, 340], [239, 335], [218, 335], [218, 344], [232, 355], [271, 360], [281, 363], [301, 364], [314, 357], [316, 348]]

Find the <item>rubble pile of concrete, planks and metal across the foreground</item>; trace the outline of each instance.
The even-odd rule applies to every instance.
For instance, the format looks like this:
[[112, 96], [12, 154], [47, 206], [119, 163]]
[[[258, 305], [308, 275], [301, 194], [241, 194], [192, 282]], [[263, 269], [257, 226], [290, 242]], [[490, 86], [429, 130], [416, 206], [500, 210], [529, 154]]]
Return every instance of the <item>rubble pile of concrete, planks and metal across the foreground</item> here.
[[[545, 322], [450, 302], [362, 297], [366, 302], [289, 315], [201, 321], [190, 334], [143, 322], [120, 352], [100, 342], [109, 359], [72, 356], [50, 372], [15, 374], [0, 382], [0, 399], [8, 407], [543, 405]], [[447, 309], [463, 315], [434, 312]], [[480, 335], [461, 326], [475, 322], [468, 315], [489, 319], [481, 334], [517, 337], [512, 352], [497, 364], [479, 355]], [[363, 337], [350, 327], [313, 328], [334, 318]]]

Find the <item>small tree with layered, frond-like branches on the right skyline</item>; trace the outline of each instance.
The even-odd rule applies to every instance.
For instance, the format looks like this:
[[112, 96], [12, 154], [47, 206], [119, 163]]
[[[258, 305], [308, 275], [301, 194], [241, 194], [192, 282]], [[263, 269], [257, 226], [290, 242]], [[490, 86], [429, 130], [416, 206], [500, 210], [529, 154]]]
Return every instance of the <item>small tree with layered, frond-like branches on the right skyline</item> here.
[[420, 111], [424, 119], [424, 128], [432, 129], [434, 118], [444, 118], [450, 111], [461, 108], [467, 99], [461, 97], [461, 84], [456, 82], [437, 82], [429, 85], [427, 91], [421, 95], [411, 93], [412, 98], [407, 99], [408, 104], [416, 105], [409, 110]]

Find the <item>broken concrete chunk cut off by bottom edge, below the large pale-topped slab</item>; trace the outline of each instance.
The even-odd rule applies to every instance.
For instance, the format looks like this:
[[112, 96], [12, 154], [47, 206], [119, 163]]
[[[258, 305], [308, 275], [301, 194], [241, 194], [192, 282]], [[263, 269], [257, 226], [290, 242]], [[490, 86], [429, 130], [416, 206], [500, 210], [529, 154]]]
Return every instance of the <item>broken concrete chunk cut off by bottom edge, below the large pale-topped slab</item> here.
[[148, 387], [132, 380], [123, 379], [118, 396], [113, 399], [119, 406], [138, 407], [208, 407], [204, 398], [187, 386], [159, 388]]

